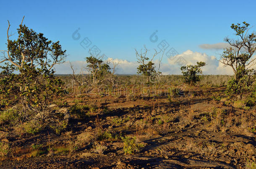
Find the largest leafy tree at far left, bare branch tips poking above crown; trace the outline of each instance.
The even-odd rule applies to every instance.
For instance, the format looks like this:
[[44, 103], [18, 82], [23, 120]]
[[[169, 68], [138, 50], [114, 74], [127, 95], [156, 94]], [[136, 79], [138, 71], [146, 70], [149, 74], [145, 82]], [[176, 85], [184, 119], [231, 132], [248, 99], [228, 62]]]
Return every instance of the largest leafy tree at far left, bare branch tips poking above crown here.
[[66, 50], [59, 41], [54, 43], [23, 25], [23, 19], [16, 40], [10, 40], [8, 21], [7, 50], [3, 50], [0, 61], [5, 63], [0, 66], [0, 97], [2, 107], [21, 103], [23, 120], [28, 120], [37, 113], [49, 113], [53, 99], [65, 94], [63, 81], [54, 76], [53, 66], [64, 62]]

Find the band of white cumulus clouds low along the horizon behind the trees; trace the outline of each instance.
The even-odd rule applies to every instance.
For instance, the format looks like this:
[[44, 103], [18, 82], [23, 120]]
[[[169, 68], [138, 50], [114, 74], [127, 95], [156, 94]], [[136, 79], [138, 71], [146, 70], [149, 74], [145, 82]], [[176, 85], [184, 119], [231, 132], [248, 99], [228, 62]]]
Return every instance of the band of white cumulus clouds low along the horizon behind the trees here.
[[[206, 63], [206, 66], [202, 67], [204, 74], [221, 74], [221, 75], [232, 75], [232, 68], [229, 66], [225, 67], [222, 63], [217, 61], [215, 56], [209, 56], [206, 53], [193, 52], [192, 50], [187, 50], [179, 55], [168, 58], [167, 62], [162, 62], [159, 71], [164, 75], [168, 74], [181, 74], [180, 71], [180, 60], [185, 61], [185, 65], [196, 64], [197, 61], [203, 61]], [[115, 69], [116, 74], [137, 74], [138, 63], [136, 61], [127, 61], [117, 58], [108, 58], [107, 61], [112, 63], [118, 63], [118, 66]], [[86, 71], [85, 61], [73, 61], [71, 62], [76, 73], [80, 73], [83, 70]], [[158, 69], [159, 61], [154, 61], [156, 69]], [[63, 63], [55, 67], [57, 74], [71, 74], [72, 70], [70, 68], [70, 63]]]

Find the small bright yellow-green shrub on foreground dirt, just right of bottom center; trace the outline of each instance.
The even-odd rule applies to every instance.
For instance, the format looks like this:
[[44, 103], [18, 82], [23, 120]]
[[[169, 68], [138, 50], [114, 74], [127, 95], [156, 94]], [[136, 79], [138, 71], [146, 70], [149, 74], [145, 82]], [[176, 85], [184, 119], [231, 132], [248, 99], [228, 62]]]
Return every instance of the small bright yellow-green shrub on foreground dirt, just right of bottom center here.
[[125, 151], [125, 154], [134, 154], [138, 153], [141, 148], [144, 147], [144, 144], [139, 143], [136, 139], [136, 137], [121, 137], [123, 141], [123, 150]]

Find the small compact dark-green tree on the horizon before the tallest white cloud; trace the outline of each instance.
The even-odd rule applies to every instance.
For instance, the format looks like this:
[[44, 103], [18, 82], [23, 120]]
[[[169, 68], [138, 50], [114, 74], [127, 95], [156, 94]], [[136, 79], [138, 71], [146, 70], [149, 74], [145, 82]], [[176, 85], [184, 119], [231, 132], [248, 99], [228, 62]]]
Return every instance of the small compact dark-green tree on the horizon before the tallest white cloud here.
[[180, 68], [185, 83], [188, 84], [195, 84], [196, 82], [201, 80], [201, 76], [199, 74], [202, 74], [201, 67], [205, 66], [204, 62], [196, 62], [197, 65], [188, 65], [188, 66], [182, 66]]

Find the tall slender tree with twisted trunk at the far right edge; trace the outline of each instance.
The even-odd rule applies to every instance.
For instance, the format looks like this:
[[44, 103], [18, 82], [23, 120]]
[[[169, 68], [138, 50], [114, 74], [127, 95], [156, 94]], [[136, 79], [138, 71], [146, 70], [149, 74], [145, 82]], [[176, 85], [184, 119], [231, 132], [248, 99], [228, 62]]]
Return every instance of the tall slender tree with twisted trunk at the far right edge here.
[[230, 47], [225, 48], [219, 60], [225, 66], [230, 66], [235, 74], [227, 84], [227, 91], [238, 94], [240, 98], [243, 92], [251, 89], [256, 80], [256, 72], [251, 68], [256, 59], [252, 58], [256, 50], [256, 34], [248, 33], [249, 25], [246, 22], [231, 25], [238, 39], [225, 38]]

